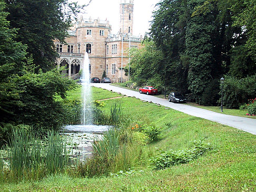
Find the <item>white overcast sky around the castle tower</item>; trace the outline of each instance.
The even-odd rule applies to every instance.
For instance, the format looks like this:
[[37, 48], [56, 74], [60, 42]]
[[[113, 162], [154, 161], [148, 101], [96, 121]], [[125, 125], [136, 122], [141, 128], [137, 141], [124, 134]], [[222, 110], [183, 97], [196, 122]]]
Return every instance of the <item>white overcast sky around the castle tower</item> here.
[[[76, 0], [79, 4], [83, 4], [85, 0]], [[129, 0], [126, 0], [127, 2]], [[134, 0], [134, 23], [133, 35], [144, 36], [145, 32], [149, 32], [150, 21], [152, 21], [152, 12], [154, 6], [160, 0]], [[92, 3], [85, 8], [84, 18], [107, 20], [112, 25], [112, 33], [116, 34], [119, 30], [119, 8], [120, 0], [92, 0]]]

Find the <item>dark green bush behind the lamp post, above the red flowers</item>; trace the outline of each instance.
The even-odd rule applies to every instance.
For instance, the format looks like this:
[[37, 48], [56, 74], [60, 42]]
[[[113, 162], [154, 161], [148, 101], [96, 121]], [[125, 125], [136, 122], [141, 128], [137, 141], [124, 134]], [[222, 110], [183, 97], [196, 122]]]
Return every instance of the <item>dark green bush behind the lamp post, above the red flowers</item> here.
[[254, 98], [256, 93], [256, 75], [235, 78], [225, 76], [223, 84], [223, 105], [227, 108], [239, 108], [247, 103], [248, 99]]

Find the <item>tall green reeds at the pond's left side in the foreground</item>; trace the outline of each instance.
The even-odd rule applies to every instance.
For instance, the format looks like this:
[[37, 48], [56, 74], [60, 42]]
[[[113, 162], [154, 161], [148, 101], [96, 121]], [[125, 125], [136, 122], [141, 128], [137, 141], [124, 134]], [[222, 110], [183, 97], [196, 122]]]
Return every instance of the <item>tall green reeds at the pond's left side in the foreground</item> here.
[[38, 179], [68, 166], [67, 144], [58, 132], [48, 132], [42, 139], [25, 129], [14, 129], [10, 143], [9, 179]]

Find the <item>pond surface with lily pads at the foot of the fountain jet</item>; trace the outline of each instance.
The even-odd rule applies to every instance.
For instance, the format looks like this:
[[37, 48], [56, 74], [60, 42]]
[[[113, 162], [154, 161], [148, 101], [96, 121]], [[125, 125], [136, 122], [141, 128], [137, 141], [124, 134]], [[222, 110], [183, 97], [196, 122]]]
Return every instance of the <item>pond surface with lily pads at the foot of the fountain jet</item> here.
[[85, 160], [92, 155], [92, 144], [94, 140], [101, 139], [103, 132], [109, 126], [97, 125], [68, 125], [63, 128], [61, 134], [67, 136], [69, 145], [73, 147], [72, 156]]

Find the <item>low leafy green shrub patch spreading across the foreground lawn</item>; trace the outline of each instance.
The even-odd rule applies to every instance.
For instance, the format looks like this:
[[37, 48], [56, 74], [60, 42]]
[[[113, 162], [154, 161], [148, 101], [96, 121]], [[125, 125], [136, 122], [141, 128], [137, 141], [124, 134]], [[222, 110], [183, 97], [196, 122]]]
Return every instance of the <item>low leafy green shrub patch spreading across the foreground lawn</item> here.
[[188, 163], [210, 149], [210, 144], [203, 140], [194, 140], [193, 142], [194, 146], [185, 150], [159, 150], [160, 154], [150, 159], [154, 169], [165, 169], [173, 165]]

